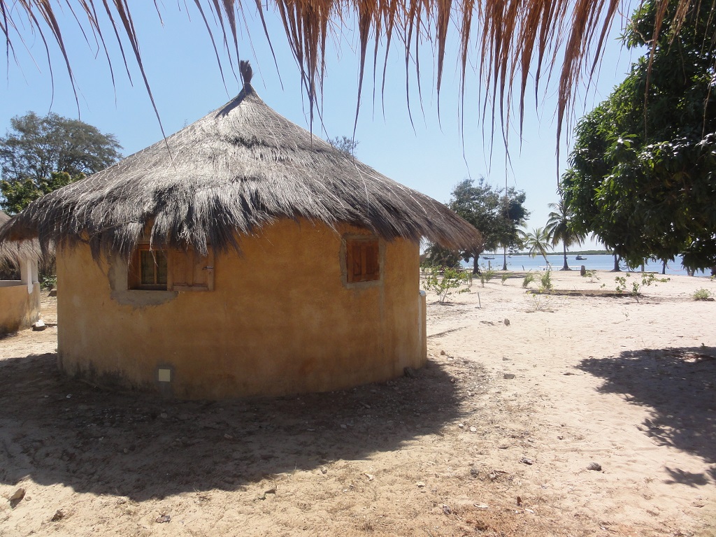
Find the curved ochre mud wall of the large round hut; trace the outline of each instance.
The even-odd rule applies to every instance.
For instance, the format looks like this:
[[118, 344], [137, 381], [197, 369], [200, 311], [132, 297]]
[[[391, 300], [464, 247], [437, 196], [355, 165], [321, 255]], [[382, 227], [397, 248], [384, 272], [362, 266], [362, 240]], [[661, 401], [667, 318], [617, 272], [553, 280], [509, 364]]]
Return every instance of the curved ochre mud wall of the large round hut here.
[[221, 399], [336, 390], [426, 359], [416, 243], [379, 241], [380, 279], [349, 284], [345, 239], [279, 221], [215, 255], [213, 291], [128, 291], [126, 263], [57, 253], [59, 364], [99, 384]]

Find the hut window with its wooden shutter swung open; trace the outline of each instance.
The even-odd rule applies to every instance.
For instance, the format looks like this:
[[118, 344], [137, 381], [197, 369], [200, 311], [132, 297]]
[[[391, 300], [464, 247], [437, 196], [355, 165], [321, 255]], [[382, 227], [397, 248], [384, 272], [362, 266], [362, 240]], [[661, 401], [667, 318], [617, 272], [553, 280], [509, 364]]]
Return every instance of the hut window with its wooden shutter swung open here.
[[137, 246], [127, 272], [129, 289], [147, 291], [213, 291], [214, 255]]

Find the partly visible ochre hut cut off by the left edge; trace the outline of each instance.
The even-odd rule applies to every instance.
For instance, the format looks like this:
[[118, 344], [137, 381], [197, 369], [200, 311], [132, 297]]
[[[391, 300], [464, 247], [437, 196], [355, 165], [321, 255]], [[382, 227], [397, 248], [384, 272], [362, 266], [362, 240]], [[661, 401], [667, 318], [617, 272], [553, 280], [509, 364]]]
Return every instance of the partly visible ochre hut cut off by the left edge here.
[[[0, 211], [0, 232], [9, 221], [10, 217]], [[0, 242], [0, 336], [39, 321], [39, 258], [37, 241]]]

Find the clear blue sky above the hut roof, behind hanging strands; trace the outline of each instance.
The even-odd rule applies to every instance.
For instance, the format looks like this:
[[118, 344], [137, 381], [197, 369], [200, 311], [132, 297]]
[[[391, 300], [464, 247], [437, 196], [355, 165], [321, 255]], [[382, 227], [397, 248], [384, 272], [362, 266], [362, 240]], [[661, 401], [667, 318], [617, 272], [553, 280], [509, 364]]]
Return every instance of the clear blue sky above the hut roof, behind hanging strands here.
[[[226, 63], [225, 79], [222, 81], [203, 21], [192, 7], [189, 7], [188, 13], [180, 12], [175, 4], [169, 3], [162, 11], [163, 25], [153, 2], [141, 2], [133, 11], [145, 69], [168, 135], [223, 105], [240, 89]], [[77, 24], [67, 14], [60, 16], [60, 20], [76, 79], [79, 112], [62, 55], [56, 47], [52, 47], [52, 84], [42, 41], [32, 34], [23, 34], [24, 45], [19, 39], [15, 42], [18, 64], [11, 58], [6, 65], [6, 79], [0, 92], [0, 132], [9, 127], [11, 117], [32, 110], [38, 114], [52, 111], [67, 117], [77, 117], [79, 113], [83, 121], [117, 136], [124, 148], [123, 155], [135, 153], [160, 140], [160, 127], [139, 70], [133, 57], [127, 56], [133, 82], [133, 85], [130, 84], [109, 26], [105, 28], [105, 39], [113, 59], [114, 85], [102, 49], [97, 49], [94, 44], [88, 47], [80, 32], [72, 32]], [[309, 128], [308, 102], [301, 92], [299, 70], [289, 51], [279, 18], [269, 15], [267, 21], [279, 72], [260, 23], [251, 18], [248, 19], [251, 41], [243, 32], [240, 42], [242, 59], [251, 60], [253, 86], [263, 100], [289, 120]], [[618, 29], [613, 34], [599, 79], [593, 85], [594, 91], [586, 97], [582, 92], [582, 104], [574, 112], [576, 117], [591, 110], [606, 97], [627, 72], [629, 53], [621, 50], [616, 43]], [[547, 95], [539, 95], [538, 105], [534, 97], [531, 100], [528, 98], [523, 140], [520, 143], [515, 125], [509, 145], [511, 164], [508, 165], [499, 132], [495, 135], [490, 156], [489, 124], [483, 132], [480, 124], [482, 102], [478, 97], [480, 80], [474, 72], [468, 75], [464, 140], [461, 137], [458, 121], [459, 74], [455, 54], [457, 40], [452, 39], [448, 43], [440, 117], [433, 82], [435, 67], [429, 49], [425, 49], [420, 59], [422, 107], [417, 95], [415, 69], [412, 69], [413, 124], [407, 110], [404, 53], [396, 44], [393, 44], [389, 57], [384, 107], [381, 104], [380, 82], [373, 100], [372, 66], [367, 69], [355, 133], [359, 142], [357, 157], [390, 178], [442, 202], [449, 200], [450, 191], [463, 178], [483, 175], [490, 183], [500, 186], [504, 186], [507, 180], [509, 186], [526, 191], [526, 205], [532, 213], [528, 228], [544, 226], [549, 212], [547, 204], [557, 200], [557, 178], [564, 169], [569, 144], [569, 138], [563, 140], [558, 167], [555, 157], [554, 87], [548, 88]], [[28, 50], [34, 59], [29, 56]], [[313, 127], [321, 137], [352, 135], [357, 102], [356, 50], [357, 37], [347, 32], [330, 44], [321, 110], [323, 125], [316, 119]], [[225, 54], [223, 57], [226, 57]], [[381, 69], [382, 62], [379, 72]], [[528, 95], [530, 93], [534, 95], [533, 89], [530, 92], [528, 88]]]

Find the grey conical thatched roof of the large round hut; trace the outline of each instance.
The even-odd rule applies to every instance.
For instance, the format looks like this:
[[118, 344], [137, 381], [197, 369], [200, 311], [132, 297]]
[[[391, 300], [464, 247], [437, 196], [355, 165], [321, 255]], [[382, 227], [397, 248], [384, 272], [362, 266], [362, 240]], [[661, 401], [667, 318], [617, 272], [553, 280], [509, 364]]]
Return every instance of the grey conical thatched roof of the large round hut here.
[[480, 242], [475, 228], [442, 203], [271, 110], [251, 87], [250, 73], [242, 74], [246, 84], [236, 99], [34, 201], [4, 236], [37, 237], [43, 248], [86, 241], [95, 255], [128, 256], [148, 223], [155, 245], [205, 252], [208, 243], [238, 249], [237, 232], [302, 217], [361, 226], [387, 240], [426, 237], [453, 248]]

